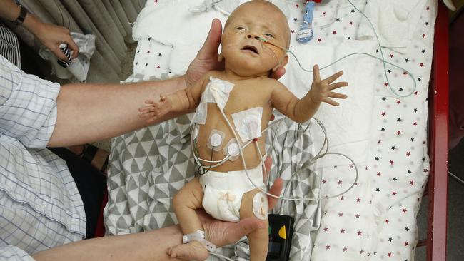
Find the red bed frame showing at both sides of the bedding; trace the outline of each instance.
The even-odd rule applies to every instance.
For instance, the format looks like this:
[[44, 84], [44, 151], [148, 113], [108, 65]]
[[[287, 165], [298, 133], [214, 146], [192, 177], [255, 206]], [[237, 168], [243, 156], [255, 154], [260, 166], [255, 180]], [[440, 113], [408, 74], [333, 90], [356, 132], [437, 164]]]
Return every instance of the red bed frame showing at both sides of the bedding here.
[[[418, 247], [427, 247], [427, 261], [446, 260], [446, 229], [448, 215], [448, 9], [438, 1], [435, 21], [432, 73], [428, 93], [428, 146], [430, 175], [428, 178], [429, 211], [427, 239]], [[108, 200], [105, 193], [96, 237], [104, 236], [103, 208]]]

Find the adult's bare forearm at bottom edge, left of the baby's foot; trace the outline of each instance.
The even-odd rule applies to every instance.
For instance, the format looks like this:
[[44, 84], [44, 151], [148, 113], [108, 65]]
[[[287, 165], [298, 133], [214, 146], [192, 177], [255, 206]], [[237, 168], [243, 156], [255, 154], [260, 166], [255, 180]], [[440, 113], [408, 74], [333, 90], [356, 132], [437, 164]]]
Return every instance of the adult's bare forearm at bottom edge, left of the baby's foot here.
[[174, 260], [166, 255], [166, 249], [181, 244], [181, 240], [179, 227], [171, 226], [131, 235], [81, 240], [38, 252], [33, 257], [38, 261]]

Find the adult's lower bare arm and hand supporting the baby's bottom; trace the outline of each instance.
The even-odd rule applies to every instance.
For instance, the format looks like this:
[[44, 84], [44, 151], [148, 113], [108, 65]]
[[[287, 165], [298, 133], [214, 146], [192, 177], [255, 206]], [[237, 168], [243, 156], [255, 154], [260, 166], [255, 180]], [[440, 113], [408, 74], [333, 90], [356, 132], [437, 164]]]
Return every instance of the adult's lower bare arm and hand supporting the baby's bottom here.
[[[280, 195], [282, 180], [278, 178], [269, 193]], [[269, 207], [273, 208], [277, 200], [268, 198]], [[238, 223], [214, 220], [204, 210], [197, 211], [207, 240], [218, 247], [231, 244], [241, 239], [249, 232], [264, 226], [263, 220], [246, 218]], [[182, 232], [178, 225], [165, 227], [149, 232], [131, 235], [116, 235], [99, 237], [90, 240], [69, 243], [61, 247], [37, 252], [33, 255], [36, 260], [174, 260], [166, 255], [166, 249], [182, 242]]]

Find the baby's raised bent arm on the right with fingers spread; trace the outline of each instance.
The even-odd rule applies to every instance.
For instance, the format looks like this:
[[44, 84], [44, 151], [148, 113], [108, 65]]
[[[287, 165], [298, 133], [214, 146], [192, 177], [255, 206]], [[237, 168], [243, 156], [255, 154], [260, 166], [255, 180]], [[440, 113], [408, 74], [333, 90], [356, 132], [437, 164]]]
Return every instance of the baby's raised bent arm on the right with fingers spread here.
[[282, 84], [278, 83], [278, 86], [273, 89], [271, 94], [271, 102], [273, 107], [284, 115], [291, 118], [293, 121], [298, 123], [303, 123], [308, 121], [309, 118], [313, 117], [316, 111], [318, 111], [321, 102], [331, 104], [333, 106], [338, 106], [339, 104], [336, 101], [333, 101], [331, 98], [346, 98], [345, 94], [336, 93], [332, 90], [340, 88], [343, 86], [348, 86], [347, 82], [337, 82], [338, 77], [340, 77], [343, 72], [339, 71], [338, 73], [333, 74], [332, 76], [321, 80], [319, 75], [319, 67], [314, 66], [313, 71], [313, 83], [311, 84], [311, 90], [306, 93], [301, 99], [296, 98], [288, 89]]

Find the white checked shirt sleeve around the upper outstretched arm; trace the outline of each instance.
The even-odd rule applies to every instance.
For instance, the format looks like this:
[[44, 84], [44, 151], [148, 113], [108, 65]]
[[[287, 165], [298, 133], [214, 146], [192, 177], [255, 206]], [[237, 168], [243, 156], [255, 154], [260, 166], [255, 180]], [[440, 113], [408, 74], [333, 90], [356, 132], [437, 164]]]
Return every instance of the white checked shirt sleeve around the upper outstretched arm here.
[[24, 73], [0, 56], [0, 134], [45, 148], [56, 123], [59, 83]]

